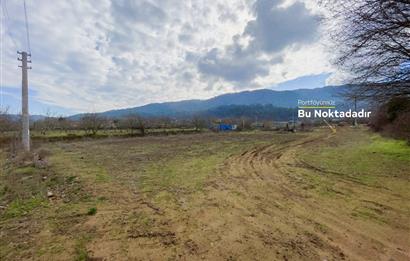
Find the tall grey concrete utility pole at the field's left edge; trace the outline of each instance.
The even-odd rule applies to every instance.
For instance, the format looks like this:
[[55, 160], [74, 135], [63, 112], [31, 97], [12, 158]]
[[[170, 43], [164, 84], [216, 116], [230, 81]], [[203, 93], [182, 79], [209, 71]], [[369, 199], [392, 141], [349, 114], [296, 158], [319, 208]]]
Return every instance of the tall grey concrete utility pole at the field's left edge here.
[[27, 66], [27, 63], [31, 63], [31, 60], [28, 60], [28, 57], [31, 57], [31, 54], [27, 52], [17, 52], [21, 55], [21, 58], [17, 60], [21, 61], [21, 121], [22, 121], [22, 143], [25, 151], [30, 151], [30, 122], [29, 122], [29, 113], [28, 113], [28, 73], [27, 70], [31, 67]]

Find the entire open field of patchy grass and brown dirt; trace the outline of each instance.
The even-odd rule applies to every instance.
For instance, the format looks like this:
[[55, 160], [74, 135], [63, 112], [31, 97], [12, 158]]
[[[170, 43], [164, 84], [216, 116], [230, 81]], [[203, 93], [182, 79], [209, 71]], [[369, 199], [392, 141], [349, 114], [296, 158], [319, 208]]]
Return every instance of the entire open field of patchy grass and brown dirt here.
[[103, 139], [41, 150], [47, 156], [34, 160], [0, 154], [0, 259], [410, 256], [410, 147], [364, 129]]

